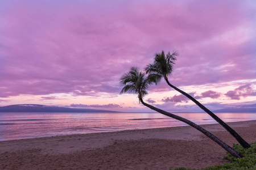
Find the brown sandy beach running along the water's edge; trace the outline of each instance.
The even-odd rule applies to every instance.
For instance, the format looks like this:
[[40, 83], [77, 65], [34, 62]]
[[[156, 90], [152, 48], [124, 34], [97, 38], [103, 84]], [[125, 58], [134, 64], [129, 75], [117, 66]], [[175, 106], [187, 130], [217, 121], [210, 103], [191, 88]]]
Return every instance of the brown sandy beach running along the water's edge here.
[[[256, 142], [256, 120], [228, 123]], [[201, 125], [228, 145], [218, 124]], [[19, 139], [0, 142], [0, 169], [204, 168], [228, 162], [226, 151], [189, 126]]]

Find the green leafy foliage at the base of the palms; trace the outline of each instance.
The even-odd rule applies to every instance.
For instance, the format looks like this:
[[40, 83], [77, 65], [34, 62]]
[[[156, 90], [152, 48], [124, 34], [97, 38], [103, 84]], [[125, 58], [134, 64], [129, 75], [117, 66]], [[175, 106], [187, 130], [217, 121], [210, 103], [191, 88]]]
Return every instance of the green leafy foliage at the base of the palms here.
[[[231, 163], [225, 163], [222, 165], [214, 165], [200, 170], [254, 170], [256, 169], [256, 143], [251, 143], [250, 148], [243, 148], [241, 145], [234, 144], [234, 150], [240, 152], [243, 158], [234, 158], [234, 156], [228, 154], [224, 156], [225, 159], [230, 160]], [[171, 170], [171, 169], [170, 169]], [[187, 169], [187, 168], [175, 168], [174, 170], [199, 170], [199, 169]]]

